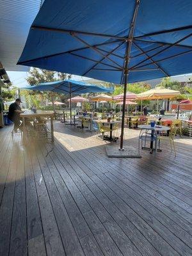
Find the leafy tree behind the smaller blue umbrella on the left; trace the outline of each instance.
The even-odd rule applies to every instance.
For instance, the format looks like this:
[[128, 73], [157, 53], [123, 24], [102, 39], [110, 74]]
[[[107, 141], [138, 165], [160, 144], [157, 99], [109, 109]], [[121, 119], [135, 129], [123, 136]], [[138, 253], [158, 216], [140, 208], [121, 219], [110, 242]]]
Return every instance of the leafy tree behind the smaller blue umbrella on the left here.
[[[45, 69], [39, 69], [39, 68], [31, 68], [29, 71], [29, 76], [27, 77], [27, 81], [31, 85], [36, 85], [40, 83], [46, 83], [46, 82], [54, 82], [58, 80], [64, 80], [70, 78], [70, 75], [61, 73], [61, 72], [54, 72], [49, 71]], [[35, 92], [29, 92], [27, 93], [27, 97], [31, 96], [31, 101], [33, 104], [40, 104], [44, 99], [48, 99], [52, 102], [52, 108], [54, 108], [54, 101], [56, 100], [56, 97], [60, 97], [59, 93], [53, 93], [53, 92], [39, 92], [38, 94]], [[33, 97], [33, 95], [36, 95], [36, 97]], [[61, 97], [60, 97], [61, 98]], [[29, 97], [28, 97], [29, 99]]]

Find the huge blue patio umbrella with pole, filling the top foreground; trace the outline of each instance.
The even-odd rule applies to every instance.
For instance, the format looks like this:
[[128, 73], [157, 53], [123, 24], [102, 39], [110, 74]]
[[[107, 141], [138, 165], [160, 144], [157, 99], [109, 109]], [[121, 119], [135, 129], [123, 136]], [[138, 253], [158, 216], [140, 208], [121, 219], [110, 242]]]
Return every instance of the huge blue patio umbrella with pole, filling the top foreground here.
[[[124, 84], [192, 72], [191, 0], [45, 0], [19, 65]], [[129, 76], [129, 77], [128, 77]]]

